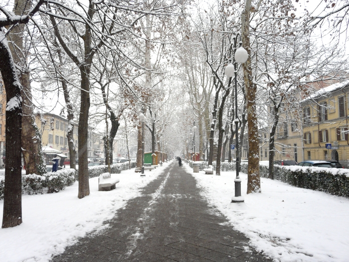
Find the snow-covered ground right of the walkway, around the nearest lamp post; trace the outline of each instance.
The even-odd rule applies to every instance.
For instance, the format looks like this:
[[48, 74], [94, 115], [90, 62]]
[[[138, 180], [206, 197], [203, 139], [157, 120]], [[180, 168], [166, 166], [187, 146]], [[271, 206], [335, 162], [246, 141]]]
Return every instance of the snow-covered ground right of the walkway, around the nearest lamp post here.
[[275, 262], [349, 262], [349, 199], [266, 178], [261, 194], [246, 195], [247, 175], [240, 173], [245, 203], [233, 204], [235, 171], [192, 174], [209, 203]]

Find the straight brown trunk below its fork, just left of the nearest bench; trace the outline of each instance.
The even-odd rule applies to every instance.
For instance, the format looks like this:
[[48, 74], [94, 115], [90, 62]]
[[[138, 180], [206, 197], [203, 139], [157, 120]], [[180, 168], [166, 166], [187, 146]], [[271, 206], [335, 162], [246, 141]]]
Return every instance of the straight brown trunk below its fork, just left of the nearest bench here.
[[88, 152], [87, 152], [87, 132], [88, 132], [88, 112], [90, 108], [90, 81], [88, 74], [89, 68], [86, 66], [80, 68], [81, 73], [81, 91], [80, 91], [80, 113], [79, 113], [79, 193], [78, 198], [84, 198], [90, 195], [90, 185], [88, 176]]

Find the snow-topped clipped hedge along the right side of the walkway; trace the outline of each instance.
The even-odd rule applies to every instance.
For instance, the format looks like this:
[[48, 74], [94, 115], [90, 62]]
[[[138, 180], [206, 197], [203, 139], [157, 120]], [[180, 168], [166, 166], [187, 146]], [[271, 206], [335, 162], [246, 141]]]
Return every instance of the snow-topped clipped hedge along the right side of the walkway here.
[[[196, 162], [200, 169], [207, 168], [207, 162]], [[247, 163], [241, 163], [241, 172], [247, 174]], [[193, 166], [193, 162], [189, 162]], [[213, 169], [216, 163], [212, 163]], [[221, 171], [236, 170], [235, 163], [222, 162]], [[261, 177], [268, 178], [269, 167], [259, 166]], [[274, 179], [288, 183], [299, 188], [322, 191], [331, 195], [349, 198], [349, 169], [300, 167], [300, 166], [274, 166]]]

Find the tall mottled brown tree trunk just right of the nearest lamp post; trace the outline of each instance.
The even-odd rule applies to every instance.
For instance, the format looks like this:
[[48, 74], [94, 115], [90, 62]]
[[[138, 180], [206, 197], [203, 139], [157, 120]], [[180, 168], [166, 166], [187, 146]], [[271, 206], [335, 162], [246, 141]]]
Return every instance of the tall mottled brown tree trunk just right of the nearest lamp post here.
[[249, 35], [251, 0], [246, 0], [245, 10], [241, 15], [241, 37], [243, 47], [248, 52], [248, 59], [243, 64], [244, 82], [247, 91], [247, 125], [248, 125], [248, 170], [247, 194], [261, 192], [259, 176], [259, 139], [256, 115], [257, 85], [252, 82], [251, 45]]

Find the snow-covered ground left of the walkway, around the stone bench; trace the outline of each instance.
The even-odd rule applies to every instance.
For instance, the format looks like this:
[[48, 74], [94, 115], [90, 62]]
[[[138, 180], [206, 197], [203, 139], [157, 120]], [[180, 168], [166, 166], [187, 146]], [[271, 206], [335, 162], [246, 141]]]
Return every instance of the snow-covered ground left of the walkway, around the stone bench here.
[[[0, 229], [0, 262], [46, 262], [93, 230], [108, 225], [117, 210], [129, 199], [140, 196], [140, 189], [164, 172], [167, 163], [145, 177], [134, 169], [112, 175], [119, 178], [116, 189], [98, 192], [98, 177], [90, 179], [90, 195], [78, 199], [78, 182], [56, 194], [22, 196], [23, 223]], [[3, 200], [0, 201], [2, 220]]]

